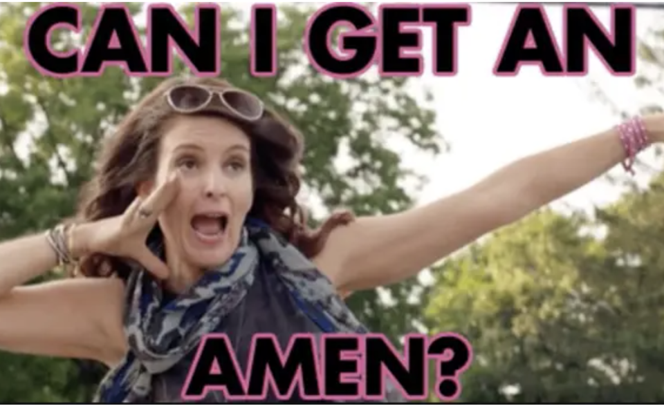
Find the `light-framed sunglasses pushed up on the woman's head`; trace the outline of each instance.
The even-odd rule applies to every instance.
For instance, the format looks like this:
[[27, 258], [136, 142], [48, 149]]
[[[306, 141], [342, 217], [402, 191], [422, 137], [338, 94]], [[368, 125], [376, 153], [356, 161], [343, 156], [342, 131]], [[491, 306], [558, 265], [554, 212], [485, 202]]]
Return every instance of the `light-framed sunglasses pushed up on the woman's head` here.
[[168, 104], [178, 113], [196, 113], [210, 106], [212, 101], [221, 104], [228, 113], [248, 122], [255, 122], [263, 117], [263, 101], [251, 93], [237, 89], [207, 88], [196, 85], [181, 85], [171, 88], [166, 93]]

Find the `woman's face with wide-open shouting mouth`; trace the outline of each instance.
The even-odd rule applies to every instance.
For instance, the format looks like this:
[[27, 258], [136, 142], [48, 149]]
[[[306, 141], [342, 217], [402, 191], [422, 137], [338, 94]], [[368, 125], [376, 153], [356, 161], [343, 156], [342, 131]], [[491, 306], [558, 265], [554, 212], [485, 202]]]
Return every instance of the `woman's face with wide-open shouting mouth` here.
[[248, 136], [221, 117], [181, 116], [167, 126], [156, 181], [177, 171], [181, 192], [160, 217], [169, 259], [210, 269], [239, 244], [252, 205]]

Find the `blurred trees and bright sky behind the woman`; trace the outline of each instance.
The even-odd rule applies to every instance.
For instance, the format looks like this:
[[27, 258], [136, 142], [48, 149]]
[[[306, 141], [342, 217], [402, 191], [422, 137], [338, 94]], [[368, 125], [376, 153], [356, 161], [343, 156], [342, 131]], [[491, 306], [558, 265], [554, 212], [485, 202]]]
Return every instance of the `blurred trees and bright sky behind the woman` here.
[[[175, 2], [174, 2], [175, 3]], [[100, 139], [160, 79], [109, 68], [86, 79], [41, 77], [23, 32], [45, 3], [0, 5], [0, 238], [71, 215]], [[86, 32], [98, 3], [79, 3]], [[145, 4], [125, 3], [144, 28]], [[302, 53], [322, 3], [279, 3], [279, 75], [248, 72], [251, 3], [221, 3], [223, 75], [257, 93], [306, 135], [315, 220], [345, 206], [390, 213], [449, 195], [524, 155], [602, 131], [663, 106], [664, 12], [638, 9], [638, 75], [611, 77], [591, 53], [587, 77], [492, 68], [516, 5], [472, 6], [459, 30], [459, 75], [335, 81]], [[178, 4], [192, 21], [192, 4]], [[562, 8], [546, 6], [562, 38]], [[592, 7], [610, 27], [610, 9]], [[430, 55], [431, 32], [423, 30]], [[56, 47], [80, 44], [59, 30]], [[431, 58], [427, 56], [430, 71]], [[178, 70], [181, 70], [181, 64]], [[455, 331], [475, 351], [461, 401], [664, 401], [664, 178], [659, 151], [455, 253], [417, 280], [356, 293], [351, 307], [395, 342]], [[54, 273], [49, 278], [58, 278]], [[75, 313], [71, 315], [76, 317]], [[104, 374], [92, 363], [0, 352], [0, 402], [88, 402]], [[435, 401], [432, 399], [432, 401]]]

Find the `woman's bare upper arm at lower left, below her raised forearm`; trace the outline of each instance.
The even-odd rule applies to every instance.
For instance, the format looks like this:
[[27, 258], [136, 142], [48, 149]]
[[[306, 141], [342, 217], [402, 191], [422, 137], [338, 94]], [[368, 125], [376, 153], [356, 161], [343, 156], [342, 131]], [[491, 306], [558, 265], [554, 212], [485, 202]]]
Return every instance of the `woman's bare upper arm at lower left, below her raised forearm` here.
[[0, 298], [0, 349], [116, 363], [122, 332], [124, 284], [75, 278], [13, 289]]

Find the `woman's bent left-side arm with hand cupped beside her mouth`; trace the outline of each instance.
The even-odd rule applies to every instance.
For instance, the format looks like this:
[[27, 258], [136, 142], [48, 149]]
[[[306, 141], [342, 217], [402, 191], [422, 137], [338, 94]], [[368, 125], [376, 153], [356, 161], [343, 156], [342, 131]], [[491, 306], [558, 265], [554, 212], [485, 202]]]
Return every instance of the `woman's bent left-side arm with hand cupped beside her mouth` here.
[[[168, 269], [145, 245], [158, 216], [179, 193], [172, 176], [120, 216], [58, 231], [50, 244], [33, 235], [0, 244], [0, 349], [89, 358], [113, 365], [127, 349], [122, 327], [124, 284], [118, 278], [75, 278], [21, 286], [58, 258], [105, 253], [132, 258], [160, 278]], [[142, 211], [151, 213], [142, 215]], [[58, 255], [59, 253], [59, 255]], [[61, 258], [61, 259], [62, 259]]]

